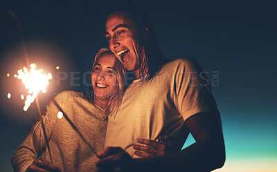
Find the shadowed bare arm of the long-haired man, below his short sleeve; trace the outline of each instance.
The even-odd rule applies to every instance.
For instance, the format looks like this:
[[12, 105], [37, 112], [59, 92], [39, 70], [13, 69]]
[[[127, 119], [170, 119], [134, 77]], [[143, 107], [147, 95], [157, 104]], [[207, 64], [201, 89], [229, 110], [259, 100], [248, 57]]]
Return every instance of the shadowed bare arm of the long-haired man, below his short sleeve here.
[[136, 162], [159, 171], [212, 171], [222, 167], [225, 147], [220, 115], [197, 113], [189, 117], [186, 124], [195, 138], [195, 144], [178, 153]]

